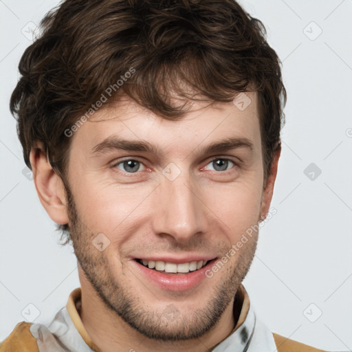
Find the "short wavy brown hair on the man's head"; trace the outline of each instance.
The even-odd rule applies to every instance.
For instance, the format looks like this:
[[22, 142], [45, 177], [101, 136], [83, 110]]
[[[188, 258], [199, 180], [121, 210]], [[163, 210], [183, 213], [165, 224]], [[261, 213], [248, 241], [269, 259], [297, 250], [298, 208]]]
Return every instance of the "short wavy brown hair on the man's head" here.
[[237, 92], [257, 91], [266, 179], [285, 122], [281, 62], [263, 23], [235, 1], [66, 0], [41, 30], [21, 58], [10, 99], [28, 167], [39, 140], [53, 168], [67, 175], [65, 131], [133, 67], [112, 98], [126, 94], [167, 119], [186, 113], [187, 104], [171, 104], [171, 94], [186, 102], [198, 100], [190, 94], [197, 91], [229, 102]]

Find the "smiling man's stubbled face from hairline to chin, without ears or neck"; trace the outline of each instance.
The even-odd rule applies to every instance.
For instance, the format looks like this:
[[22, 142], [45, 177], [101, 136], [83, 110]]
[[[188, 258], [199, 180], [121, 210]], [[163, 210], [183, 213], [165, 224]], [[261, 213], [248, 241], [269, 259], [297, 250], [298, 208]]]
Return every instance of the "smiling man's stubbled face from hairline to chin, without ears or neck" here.
[[[201, 336], [248, 272], [257, 233], [205, 274], [261, 215], [261, 135], [256, 95], [247, 95], [243, 111], [232, 102], [193, 103], [178, 121], [126, 99], [72, 137], [68, 208], [78, 263], [107, 307], [148, 338]], [[206, 151], [230, 138], [237, 145]], [[98, 146], [108, 139], [157, 151]], [[155, 262], [166, 265], [155, 270]]]

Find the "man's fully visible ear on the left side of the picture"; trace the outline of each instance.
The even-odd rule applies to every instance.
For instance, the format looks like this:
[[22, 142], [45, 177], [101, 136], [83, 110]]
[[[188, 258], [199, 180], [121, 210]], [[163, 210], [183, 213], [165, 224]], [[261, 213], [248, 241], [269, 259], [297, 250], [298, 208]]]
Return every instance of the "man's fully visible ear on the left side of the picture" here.
[[56, 175], [47, 160], [42, 142], [36, 142], [30, 151], [34, 184], [39, 199], [50, 218], [61, 225], [69, 222], [67, 217], [66, 192], [61, 177]]

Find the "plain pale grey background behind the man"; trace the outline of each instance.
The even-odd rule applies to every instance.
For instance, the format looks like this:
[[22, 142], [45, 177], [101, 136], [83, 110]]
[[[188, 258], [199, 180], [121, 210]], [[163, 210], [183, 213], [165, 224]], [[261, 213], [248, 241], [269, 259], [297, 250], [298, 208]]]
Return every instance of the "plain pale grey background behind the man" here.
[[[25, 320], [28, 304], [40, 311], [35, 321], [46, 322], [80, 285], [72, 248], [56, 244], [54, 223], [22, 173], [8, 110], [31, 43], [28, 23], [38, 24], [56, 3], [0, 0], [0, 340]], [[272, 200], [278, 213], [261, 230], [244, 284], [272, 331], [321, 349], [352, 350], [352, 2], [241, 3], [265, 24], [288, 92]], [[322, 171], [313, 180], [304, 173], [311, 163]]]

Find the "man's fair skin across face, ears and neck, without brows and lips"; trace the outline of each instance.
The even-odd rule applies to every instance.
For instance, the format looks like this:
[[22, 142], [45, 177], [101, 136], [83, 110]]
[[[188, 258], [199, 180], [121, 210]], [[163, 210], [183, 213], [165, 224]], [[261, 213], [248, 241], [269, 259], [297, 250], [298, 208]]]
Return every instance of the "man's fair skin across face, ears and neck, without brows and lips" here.
[[[41, 203], [53, 221], [71, 228], [82, 288], [80, 316], [101, 351], [208, 351], [234, 328], [234, 294], [252, 262], [258, 233], [212, 278], [181, 292], [153, 285], [136, 270], [134, 259], [187, 253], [221, 259], [265, 218], [280, 149], [263, 187], [257, 97], [247, 95], [252, 102], [243, 111], [232, 102], [192, 102], [178, 121], [129, 98], [100, 109], [72, 136], [66, 189], [43, 144], [32, 148]], [[148, 141], [162, 154], [113, 150], [94, 156], [94, 146], [111, 135]], [[248, 138], [253, 149], [203, 153], [225, 137]], [[219, 170], [215, 162], [224, 158], [239, 164]], [[141, 163], [137, 172], [124, 167], [122, 161], [129, 159]], [[162, 173], [170, 162], [181, 171], [173, 181]], [[102, 252], [92, 244], [99, 233], [110, 241]], [[170, 305], [177, 311], [172, 321], [163, 314]]]

